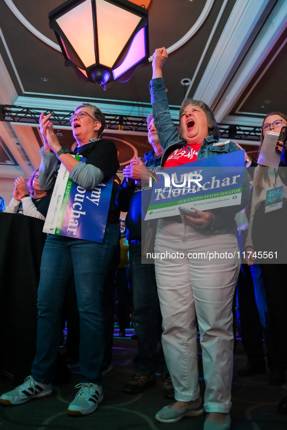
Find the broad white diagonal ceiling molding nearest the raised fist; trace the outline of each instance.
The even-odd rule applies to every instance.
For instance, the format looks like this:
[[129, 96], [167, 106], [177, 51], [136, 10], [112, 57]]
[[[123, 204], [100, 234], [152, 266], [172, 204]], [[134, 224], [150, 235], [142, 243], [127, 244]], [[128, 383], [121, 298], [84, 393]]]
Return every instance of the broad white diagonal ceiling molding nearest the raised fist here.
[[[274, 3], [275, 0], [272, 0]], [[221, 33], [210, 61], [203, 73], [194, 98], [203, 100], [214, 109], [220, 92], [228, 82], [230, 74], [242, 60], [252, 44], [254, 28], [260, 24], [265, 8], [270, 7], [270, 0], [237, 0]]]

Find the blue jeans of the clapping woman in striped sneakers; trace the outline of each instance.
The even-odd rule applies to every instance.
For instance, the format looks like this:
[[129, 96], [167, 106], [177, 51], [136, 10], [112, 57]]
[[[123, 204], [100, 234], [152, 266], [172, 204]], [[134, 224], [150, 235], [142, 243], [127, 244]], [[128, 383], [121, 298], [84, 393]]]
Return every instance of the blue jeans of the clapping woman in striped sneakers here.
[[38, 289], [35, 381], [53, 378], [60, 337], [65, 289], [74, 272], [80, 314], [80, 368], [83, 382], [101, 383], [103, 356], [102, 288], [119, 240], [119, 225], [107, 224], [102, 243], [48, 235]]

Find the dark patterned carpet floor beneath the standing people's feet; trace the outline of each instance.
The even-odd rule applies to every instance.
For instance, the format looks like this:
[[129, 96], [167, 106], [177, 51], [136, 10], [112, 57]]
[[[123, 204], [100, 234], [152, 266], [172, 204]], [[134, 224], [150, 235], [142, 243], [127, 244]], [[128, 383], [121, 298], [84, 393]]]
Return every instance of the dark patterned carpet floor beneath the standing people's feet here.
[[[81, 418], [66, 414], [69, 402], [80, 382], [79, 369], [73, 369], [70, 383], [53, 387], [49, 398], [35, 399], [13, 407], [0, 406], [0, 430], [202, 430], [205, 415], [184, 418], [173, 424], [162, 424], [154, 415], [171, 403], [162, 396], [161, 377], [157, 386], [143, 394], [124, 394], [122, 387], [133, 373], [132, 359], [136, 340], [115, 338], [114, 369], [104, 376], [104, 400], [94, 414]], [[287, 430], [287, 415], [278, 414], [276, 405], [287, 396], [287, 386], [268, 385], [268, 373], [249, 378], [238, 378], [237, 371], [246, 364], [241, 341], [234, 355], [234, 380], [232, 388], [232, 430]], [[202, 375], [202, 372], [201, 372]], [[202, 395], [204, 381], [200, 378]], [[0, 376], [0, 394], [13, 389], [13, 381]]]

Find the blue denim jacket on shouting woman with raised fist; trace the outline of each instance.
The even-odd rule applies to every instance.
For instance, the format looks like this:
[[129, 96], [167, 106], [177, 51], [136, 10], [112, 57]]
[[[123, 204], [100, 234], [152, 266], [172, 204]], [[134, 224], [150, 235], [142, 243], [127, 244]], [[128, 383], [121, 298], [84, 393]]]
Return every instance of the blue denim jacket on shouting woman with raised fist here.
[[[169, 103], [166, 96], [165, 84], [162, 78], [155, 78], [150, 83], [152, 115], [154, 125], [158, 134], [160, 144], [164, 148], [161, 166], [164, 165], [169, 154], [177, 147], [186, 144], [186, 140], [178, 134], [177, 127], [174, 125], [170, 112]], [[207, 136], [199, 149], [197, 159], [215, 157], [220, 154], [239, 151], [238, 146], [231, 141], [222, 142], [222, 146], [214, 145], [218, 141], [213, 136]], [[211, 210], [214, 214], [214, 221], [205, 228], [200, 229], [203, 234], [236, 234], [235, 215], [246, 207], [250, 200], [250, 187], [246, 168], [242, 184], [242, 197], [240, 205], [231, 207], [218, 207]]]

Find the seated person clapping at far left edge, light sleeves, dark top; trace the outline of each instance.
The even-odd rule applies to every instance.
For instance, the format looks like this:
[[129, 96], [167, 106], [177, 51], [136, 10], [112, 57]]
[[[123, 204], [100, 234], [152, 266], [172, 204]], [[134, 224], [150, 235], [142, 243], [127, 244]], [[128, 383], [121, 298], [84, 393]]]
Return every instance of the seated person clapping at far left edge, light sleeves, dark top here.
[[29, 191], [22, 176], [17, 177], [13, 198], [3, 212], [19, 213], [45, 220], [51, 195], [47, 195], [47, 192], [39, 187], [39, 169], [35, 170], [29, 179], [28, 188]]

